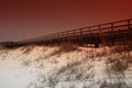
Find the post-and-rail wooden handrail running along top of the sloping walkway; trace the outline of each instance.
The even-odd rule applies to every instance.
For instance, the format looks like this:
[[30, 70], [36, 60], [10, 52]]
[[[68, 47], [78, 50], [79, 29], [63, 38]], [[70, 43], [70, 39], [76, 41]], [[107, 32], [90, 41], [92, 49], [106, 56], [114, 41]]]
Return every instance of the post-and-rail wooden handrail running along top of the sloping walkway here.
[[[36, 37], [40, 41], [51, 41], [51, 40], [57, 40], [57, 38], [65, 38], [65, 37], [73, 37], [73, 36], [81, 36], [85, 34], [90, 35], [91, 33], [96, 33], [96, 34], [103, 34], [106, 32], [110, 32], [113, 33], [114, 31], [117, 31], [117, 29], [121, 29], [121, 28], [127, 28], [124, 30], [129, 30], [130, 32], [132, 32], [132, 19], [128, 19], [128, 20], [121, 20], [121, 21], [114, 21], [114, 22], [109, 22], [109, 23], [102, 23], [102, 24], [97, 24], [97, 25], [92, 25], [92, 26], [85, 26], [85, 28], [80, 28], [80, 29], [73, 29], [73, 30], [68, 30], [68, 31], [63, 31], [63, 32], [57, 32], [57, 33], [53, 33], [53, 34], [48, 34], [48, 35], [44, 35], [41, 37]], [[129, 32], [128, 31], [128, 32]], [[36, 38], [31, 38], [29, 40], [24, 40], [21, 42], [33, 42]]]

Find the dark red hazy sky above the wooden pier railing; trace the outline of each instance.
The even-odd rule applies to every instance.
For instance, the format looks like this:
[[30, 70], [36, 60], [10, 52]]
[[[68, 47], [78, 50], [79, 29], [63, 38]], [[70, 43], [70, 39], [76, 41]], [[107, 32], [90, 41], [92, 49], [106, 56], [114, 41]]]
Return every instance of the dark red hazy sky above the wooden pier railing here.
[[132, 19], [132, 0], [0, 0], [0, 42]]

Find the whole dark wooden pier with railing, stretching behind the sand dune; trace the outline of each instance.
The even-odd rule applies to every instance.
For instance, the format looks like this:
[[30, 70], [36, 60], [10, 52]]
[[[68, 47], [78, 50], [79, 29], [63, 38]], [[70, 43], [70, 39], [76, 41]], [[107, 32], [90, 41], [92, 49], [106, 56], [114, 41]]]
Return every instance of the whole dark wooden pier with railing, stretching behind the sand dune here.
[[36, 38], [24, 40], [20, 42], [7, 42], [6, 46], [21, 46], [26, 44], [61, 44], [72, 42], [77, 44], [99, 44], [114, 45], [118, 42], [132, 42], [132, 19], [109, 22], [92, 26], [74, 29], [64, 32], [57, 32]]

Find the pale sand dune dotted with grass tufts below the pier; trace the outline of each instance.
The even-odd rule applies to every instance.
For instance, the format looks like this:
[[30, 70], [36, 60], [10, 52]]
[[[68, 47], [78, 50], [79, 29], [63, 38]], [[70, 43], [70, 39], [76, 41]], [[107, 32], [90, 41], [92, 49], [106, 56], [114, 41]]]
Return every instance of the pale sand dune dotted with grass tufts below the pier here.
[[0, 48], [0, 88], [132, 88], [125, 46]]

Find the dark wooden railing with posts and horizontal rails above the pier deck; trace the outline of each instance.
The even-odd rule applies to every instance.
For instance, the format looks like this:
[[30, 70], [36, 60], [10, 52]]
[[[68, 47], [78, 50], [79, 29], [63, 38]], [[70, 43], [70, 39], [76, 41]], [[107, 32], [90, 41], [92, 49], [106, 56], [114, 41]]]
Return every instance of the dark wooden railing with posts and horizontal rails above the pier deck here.
[[64, 38], [64, 37], [76, 37], [76, 36], [81, 37], [82, 35], [101, 36], [101, 35], [108, 35], [108, 34], [112, 35], [112, 34], [120, 34], [120, 33], [132, 33], [132, 19], [53, 33], [50, 35], [41, 36], [41, 37], [29, 40], [29, 41], [46, 42], [50, 40]]

